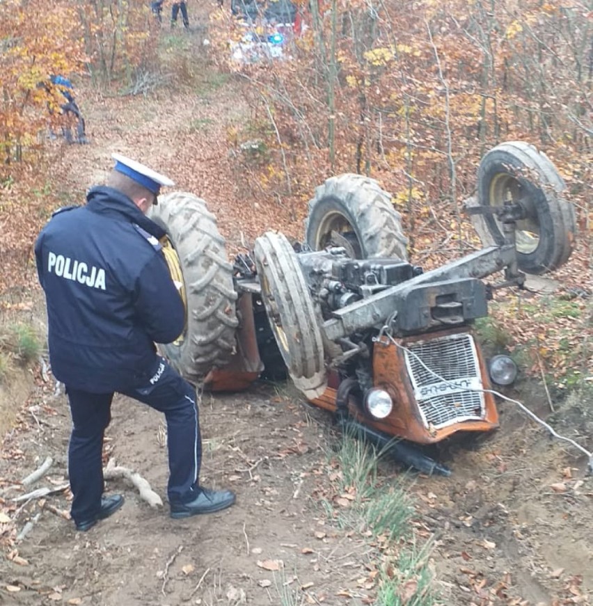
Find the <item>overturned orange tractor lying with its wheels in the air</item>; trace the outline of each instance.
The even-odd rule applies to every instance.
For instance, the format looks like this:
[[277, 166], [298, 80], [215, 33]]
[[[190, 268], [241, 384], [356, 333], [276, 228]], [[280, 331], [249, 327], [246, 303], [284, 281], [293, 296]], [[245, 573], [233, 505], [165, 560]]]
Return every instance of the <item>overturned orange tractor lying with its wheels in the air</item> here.
[[[233, 263], [205, 202], [172, 193], [152, 219], [168, 234], [164, 252], [187, 322], [161, 351], [212, 390], [288, 374], [344, 428], [389, 445], [407, 465], [447, 474], [414, 445], [498, 426], [472, 324], [487, 315], [496, 288], [521, 287], [525, 273], [568, 260], [576, 225], [563, 189], [532, 145], [493, 148], [468, 208], [486, 248], [427, 272], [407, 260], [390, 195], [361, 175], [317, 188], [303, 244], [267, 232]], [[500, 281], [486, 285], [493, 274]], [[504, 383], [512, 361], [499, 357], [495, 366]]]

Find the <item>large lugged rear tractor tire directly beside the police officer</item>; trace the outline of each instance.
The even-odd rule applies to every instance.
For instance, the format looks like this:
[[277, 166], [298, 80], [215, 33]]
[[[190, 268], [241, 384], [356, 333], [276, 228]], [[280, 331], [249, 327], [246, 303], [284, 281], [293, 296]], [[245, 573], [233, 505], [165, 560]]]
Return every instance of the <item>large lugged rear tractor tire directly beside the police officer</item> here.
[[166, 250], [166, 260], [174, 279], [181, 274], [186, 303], [183, 334], [159, 347], [188, 381], [200, 383], [235, 350], [237, 292], [225, 240], [206, 202], [191, 193], [159, 198], [150, 218], [168, 234], [173, 250]]

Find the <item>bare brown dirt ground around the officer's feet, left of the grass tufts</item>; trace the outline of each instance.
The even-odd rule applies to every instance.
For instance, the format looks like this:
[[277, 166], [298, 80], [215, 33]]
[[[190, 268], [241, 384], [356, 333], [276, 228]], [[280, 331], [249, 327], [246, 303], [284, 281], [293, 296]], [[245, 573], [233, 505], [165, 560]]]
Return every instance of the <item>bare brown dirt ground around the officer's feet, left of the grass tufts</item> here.
[[[47, 417], [35, 436], [35, 441], [42, 441], [41, 448], [33, 445], [24, 456], [27, 461], [32, 461], [33, 452], [54, 456], [52, 479], [57, 482], [65, 473], [69, 420], [63, 397], [52, 404], [55, 414]], [[124, 398], [116, 401], [113, 412], [109, 456], [141, 470], [163, 495], [167, 470], [165, 447], [159, 442], [160, 415]], [[360, 573], [350, 572], [361, 564], [355, 555], [363, 552], [363, 543], [337, 532], [334, 536], [331, 530], [326, 540], [315, 538], [323, 520], [322, 509], [312, 498], [313, 472], [323, 456], [317, 426], [303, 422], [302, 413], [271, 390], [256, 388], [246, 396], [216, 400], [207, 397], [200, 409], [203, 484], [231, 486], [238, 493], [237, 505], [180, 522], [168, 518], [166, 509], [150, 509], [124, 484], [109, 482], [109, 490], [125, 492], [125, 505], [109, 523], [87, 534], [75, 532], [72, 523], [58, 516], [43, 514], [19, 547], [19, 556], [29, 564], [2, 566], [3, 580], [22, 587], [12, 599], [31, 605], [44, 599], [68, 603], [73, 598], [106, 606], [244, 600], [264, 605], [279, 603], [276, 585], [283, 582], [294, 587], [313, 582], [319, 596], [343, 587], [355, 590], [351, 577]], [[16, 443], [22, 444], [9, 441], [8, 449]], [[63, 497], [52, 503], [68, 508]], [[306, 546], [311, 550], [303, 554]], [[339, 575], [327, 575], [325, 559], [340, 548], [354, 561]], [[283, 571], [258, 566], [266, 561], [267, 568], [282, 561]], [[61, 600], [51, 597], [56, 593]], [[10, 600], [5, 591], [0, 595]]]

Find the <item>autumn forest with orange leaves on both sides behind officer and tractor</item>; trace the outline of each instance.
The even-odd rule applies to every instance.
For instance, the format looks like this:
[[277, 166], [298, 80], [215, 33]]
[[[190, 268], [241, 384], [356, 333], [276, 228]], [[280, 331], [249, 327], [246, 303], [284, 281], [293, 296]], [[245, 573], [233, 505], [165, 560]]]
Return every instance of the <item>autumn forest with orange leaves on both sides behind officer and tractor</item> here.
[[[590, 293], [590, 3], [297, 0], [297, 7], [306, 28], [285, 40], [289, 61], [237, 63], [229, 45], [243, 30], [228, 6], [213, 5], [209, 22], [194, 28], [202, 35], [192, 43], [204, 49], [196, 65], [190, 56], [161, 51], [159, 26], [145, 1], [58, 0], [51, 11], [42, 0], [0, 1], [5, 307], [30, 289], [35, 234], [70, 195], [52, 170], [60, 148], [45, 136], [61, 119], [61, 93], [40, 83], [63, 74], [89, 95], [134, 102], [136, 95], [182, 87], [200, 69], [241, 83], [250, 115], [217, 143], [235, 159], [232, 175], [221, 178], [237, 183], [244, 203], [257, 200], [266, 228], [302, 237], [313, 187], [333, 174], [363, 173], [393, 192], [413, 262], [436, 266], [480, 246], [462, 212], [475, 191], [480, 158], [501, 141], [528, 141], [560, 170], [576, 209], [578, 246], [557, 277], [565, 288]], [[182, 170], [191, 173], [191, 166]], [[276, 225], [278, 212], [285, 225]], [[587, 299], [558, 303], [553, 313], [574, 316], [569, 326], [562, 318], [560, 326], [548, 322], [548, 299], [541, 309], [521, 308], [519, 299], [495, 308], [494, 317], [507, 329], [515, 325], [512, 340], [529, 344], [528, 366], [539, 372], [543, 365], [560, 388], [590, 379]], [[514, 322], [522, 313], [530, 330]]]

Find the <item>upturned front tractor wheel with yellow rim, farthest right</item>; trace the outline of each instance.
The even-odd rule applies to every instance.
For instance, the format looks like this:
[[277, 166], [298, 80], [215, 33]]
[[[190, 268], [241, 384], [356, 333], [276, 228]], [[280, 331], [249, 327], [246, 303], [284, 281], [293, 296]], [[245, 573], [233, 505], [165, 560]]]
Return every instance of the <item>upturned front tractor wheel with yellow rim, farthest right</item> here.
[[[543, 152], [522, 141], [493, 147], [480, 162], [478, 204], [500, 207], [521, 202], [527, 218], [516, 225], [519, 269], [546, 273], [558, 269], [571, 255], [576, 234], [574, 207], [564, 200], [564, 181]], [[491, 241], [505, 243], [503, 226], [493, 214], [484, 215]]]

